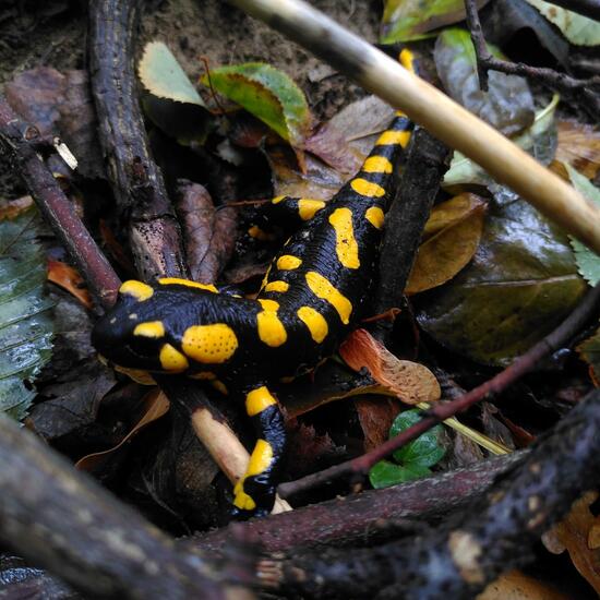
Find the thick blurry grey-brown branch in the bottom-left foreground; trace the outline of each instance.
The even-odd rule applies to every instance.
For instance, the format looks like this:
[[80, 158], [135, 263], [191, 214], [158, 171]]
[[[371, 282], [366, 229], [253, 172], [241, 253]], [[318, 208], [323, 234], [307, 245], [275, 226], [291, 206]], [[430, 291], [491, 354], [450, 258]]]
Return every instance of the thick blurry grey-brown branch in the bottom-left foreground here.
[[[224, 598], [217, 573], [0, 417], [0, 537], [86, 597]], [[232, 591], [229, 589], [229, 591]]]

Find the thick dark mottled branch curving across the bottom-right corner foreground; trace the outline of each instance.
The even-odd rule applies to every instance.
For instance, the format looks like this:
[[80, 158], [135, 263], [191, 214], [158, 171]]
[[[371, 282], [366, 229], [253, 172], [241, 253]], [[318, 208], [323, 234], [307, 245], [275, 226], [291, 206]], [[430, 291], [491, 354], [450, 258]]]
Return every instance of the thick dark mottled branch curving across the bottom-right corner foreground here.
[[598, 484], [599, 428], [595, 391], [459, 518], [383, 547], [265, 560], [259, 573], [293, 597], [475, 598], [502, 572], [530, 560], [539, 536]]

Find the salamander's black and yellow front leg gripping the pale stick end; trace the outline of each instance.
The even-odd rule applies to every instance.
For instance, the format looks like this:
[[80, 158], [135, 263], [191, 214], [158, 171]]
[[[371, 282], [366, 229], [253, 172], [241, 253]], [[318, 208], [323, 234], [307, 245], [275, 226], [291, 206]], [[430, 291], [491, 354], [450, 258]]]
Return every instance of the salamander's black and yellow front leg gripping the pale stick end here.
[[284, 416], [264, 385], [247, 394], [245, 411], [252, 419], [257, 440], [247, 471], [233, 488], [233, 513], [241, 517], [264, 516], [275, 502], [275, 487], [286, 446]]

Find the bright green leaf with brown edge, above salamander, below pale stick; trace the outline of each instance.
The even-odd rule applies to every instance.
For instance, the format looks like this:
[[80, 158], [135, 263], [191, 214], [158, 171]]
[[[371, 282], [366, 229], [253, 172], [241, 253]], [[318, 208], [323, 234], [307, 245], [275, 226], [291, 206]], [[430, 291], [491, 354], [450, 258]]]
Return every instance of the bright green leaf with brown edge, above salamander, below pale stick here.
[[[201, 82], [208, 85], [208, 77]], [[254, 115], [284, 140], [301, 146], [312, 128], [302, 91], [283, 71], [263, 62], [247, 62], [211, 71], [213, 87]]]

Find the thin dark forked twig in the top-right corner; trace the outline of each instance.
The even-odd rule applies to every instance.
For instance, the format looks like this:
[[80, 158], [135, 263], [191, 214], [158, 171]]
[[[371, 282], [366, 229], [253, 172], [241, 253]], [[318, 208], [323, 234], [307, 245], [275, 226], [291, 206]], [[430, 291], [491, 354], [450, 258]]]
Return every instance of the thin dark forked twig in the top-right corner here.
[[488, 87], [488, 71], [502, 71], [511, 75], [530, 77], [544, 83], [552, 89], [569, 94], [574, 100], [581, 104], [592, 117], [600, 117], [600, 94], [591, 87], [600, 87], [600, 76], [595, 75], [589, 80], [577, 80], [566, 73], [560, 73], [553, 69], [542, 67], [530, 67], [521, 62], [508, 62], [493, 57], [488, 50], [479, 13], [475, 0], [465, 0], [467, 24], [471, 33], [471, 40], [477, 57], [477, 71], [479, 85], [482, 89]]

